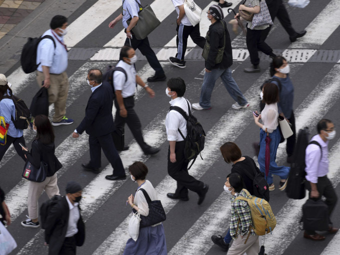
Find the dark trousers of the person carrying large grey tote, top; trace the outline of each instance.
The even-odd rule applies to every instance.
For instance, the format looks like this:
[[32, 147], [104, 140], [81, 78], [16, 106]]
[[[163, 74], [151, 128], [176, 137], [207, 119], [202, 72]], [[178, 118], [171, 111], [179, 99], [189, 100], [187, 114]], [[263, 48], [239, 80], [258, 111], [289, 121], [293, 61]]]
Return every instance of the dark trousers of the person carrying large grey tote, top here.
[[[131, 45], [130, 45], [130, 40], [131, 40]], [[124, 45], [131, 46], [134, 50], [139, 49], [140, 52], [146, 57], [152, 69], [155, 71], [155, 75], [164, 74], [164, 70], [159, 63], [156, 54], [152, 50], [150, 43], [148, 41], [148, 38], [146, 37], [142, 40], [138, 40], [132, 34], [132, 39], [130, 40], [126, 37]]]

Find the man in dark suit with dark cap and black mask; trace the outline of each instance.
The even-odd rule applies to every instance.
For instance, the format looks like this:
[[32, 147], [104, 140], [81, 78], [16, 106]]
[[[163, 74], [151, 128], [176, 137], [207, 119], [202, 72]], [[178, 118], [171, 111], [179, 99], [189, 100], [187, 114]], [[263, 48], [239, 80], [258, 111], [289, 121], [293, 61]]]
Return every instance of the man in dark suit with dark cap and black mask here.
[[78, 202], [81, 186], [75, 181], [66, 185], [66, 195], [51, 207], [46, 218], [45, 244], [48, 255], [74, 255], [76, 246], [85, 240], [85, 225], [82, 221]]

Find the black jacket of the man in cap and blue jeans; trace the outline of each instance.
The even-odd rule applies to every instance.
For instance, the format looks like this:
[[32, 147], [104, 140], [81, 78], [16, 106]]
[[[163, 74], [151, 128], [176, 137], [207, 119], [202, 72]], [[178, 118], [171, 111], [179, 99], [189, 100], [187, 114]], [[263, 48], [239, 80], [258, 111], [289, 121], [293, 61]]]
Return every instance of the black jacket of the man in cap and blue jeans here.
[[[224, 31], [223, 25], [224, 23]], [[225, 33], [224, 33], [225, 32]], [[215, 63], [217, 49], [223, 47], [224, 44], [224, 37], [225, 34], [225, 46], [222, 61], [218, 64]], [[226, 28], [226, 23], [224, 20], [217, 20], [213, 24], [209, 26], [209, 30], [206, 33], [207, 35], [207, 42], [210, 44], [210, 50], [208, 53], [208, 57], [205, 61], [205, 68], [208, 70], [211, 69], [226, 69], [232, 64], [232, 49], [231, 49], [231, 42], [230, 42], [230, 35]]]

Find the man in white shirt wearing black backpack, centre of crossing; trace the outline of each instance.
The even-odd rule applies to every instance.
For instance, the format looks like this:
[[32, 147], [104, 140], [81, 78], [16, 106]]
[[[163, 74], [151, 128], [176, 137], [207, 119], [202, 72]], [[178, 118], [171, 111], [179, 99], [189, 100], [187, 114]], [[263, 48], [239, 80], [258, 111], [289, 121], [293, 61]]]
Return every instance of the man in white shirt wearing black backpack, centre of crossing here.
[[[171, 97], [171, 107], [177, 106], [185, 111], [186, 115], [191, 115], [190, 103], [183, 97], [185, 92], [184, 80], [180, 77], [170, 78], [167, 81], [165, 94]], [[205, 198], [209, 186], [202, 181], [195, 179], [188, 173], [189, 159], [185, 156], [185, 138], [187, 137], [187, 121], [177, 110], [170, 108], [165, 118], [165, 127], [169, 149], [167, 154], [167, 172], [177, 181], [177, 188], [174, 193], [167, 193], [171, 199], [189, 200], [188, 189], [198, 194], [198, 204]], [[205, 135], [205, 133], [204, 133]], [[201, 137], [204, 138], [202, 134]]]

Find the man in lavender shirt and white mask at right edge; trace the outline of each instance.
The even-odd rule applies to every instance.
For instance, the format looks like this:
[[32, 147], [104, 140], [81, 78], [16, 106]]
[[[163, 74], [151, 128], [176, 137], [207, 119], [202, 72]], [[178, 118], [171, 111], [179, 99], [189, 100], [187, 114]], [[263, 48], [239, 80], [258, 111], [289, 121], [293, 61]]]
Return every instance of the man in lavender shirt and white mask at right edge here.
[[[329, 119], [321, 119], [317, 125], [317, 134], [310, 141], [316, 141], [318, 144], [309, 143], [305, 153], [305, 171], [306, 171], [306, 187], [309, 190], [310, 198], [321, 197], [326, 198], [325, 203], [328, 206], [329, 216], [329, 233], [336, 233], [338, 228], [332, 226], [330, 214], [333, 211], [337, 196], [333, 185], [327, 177], [328, 173], [328, 143], [335, 137], [335, 126]], [[305, 230], [304, 238], [311, 240], [323, 240], [325, 236], [315, 231]]]

